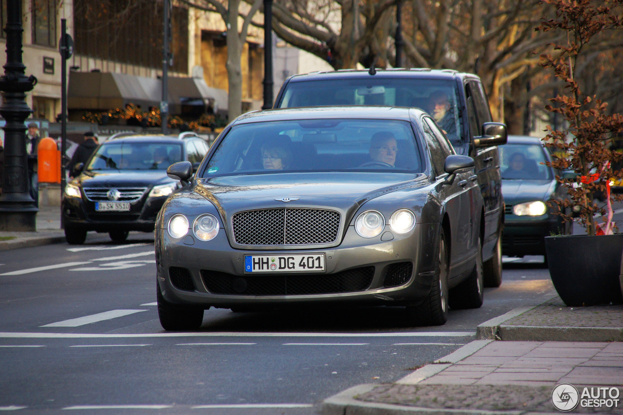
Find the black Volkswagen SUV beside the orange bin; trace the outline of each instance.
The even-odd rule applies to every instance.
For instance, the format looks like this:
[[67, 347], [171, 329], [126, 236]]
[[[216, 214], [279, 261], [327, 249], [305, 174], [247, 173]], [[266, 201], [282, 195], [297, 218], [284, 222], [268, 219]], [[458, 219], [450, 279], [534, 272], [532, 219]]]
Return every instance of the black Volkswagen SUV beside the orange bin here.
[[129, 231], [151, 232], [167, 196], [180, 184], [166, 175], [178, 161], [197, 168], [208, 145], [194, 133], [122, 134], [98, 146], [62, 199], [65, 238], [83, 244], [87, 231], [125, 241]]

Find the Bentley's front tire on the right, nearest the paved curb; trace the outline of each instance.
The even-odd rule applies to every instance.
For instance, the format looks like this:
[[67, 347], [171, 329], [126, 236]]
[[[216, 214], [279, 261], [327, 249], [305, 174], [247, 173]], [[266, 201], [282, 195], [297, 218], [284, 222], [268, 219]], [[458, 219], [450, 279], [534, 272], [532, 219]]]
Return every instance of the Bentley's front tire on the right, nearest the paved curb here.
[[448, 320], [448, 252], [443, 232], [439, 235], [438, 252], [438, 266], [429, 295], [406, 309], [407, 317], [417, 326], [440, 326]]

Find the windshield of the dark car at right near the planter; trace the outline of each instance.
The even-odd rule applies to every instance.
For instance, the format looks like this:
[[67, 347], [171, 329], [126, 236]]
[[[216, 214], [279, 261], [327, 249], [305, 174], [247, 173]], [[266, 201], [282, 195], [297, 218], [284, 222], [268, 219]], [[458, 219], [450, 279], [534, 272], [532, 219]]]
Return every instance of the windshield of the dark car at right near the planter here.
[[540, 144], [511, 144], [498, 147], [503, 179], [551, 180], [551, 168], [544, 165], [545, 149]]

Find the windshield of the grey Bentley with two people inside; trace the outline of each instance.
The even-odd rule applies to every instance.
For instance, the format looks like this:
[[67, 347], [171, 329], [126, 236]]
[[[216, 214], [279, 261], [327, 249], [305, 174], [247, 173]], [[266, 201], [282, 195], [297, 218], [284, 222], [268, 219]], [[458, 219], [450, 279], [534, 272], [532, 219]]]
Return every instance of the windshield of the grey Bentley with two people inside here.
[[302, 171], [421, 173], [411, 124], [393, 120], [298, 120], [237, 125], [202, 177]]

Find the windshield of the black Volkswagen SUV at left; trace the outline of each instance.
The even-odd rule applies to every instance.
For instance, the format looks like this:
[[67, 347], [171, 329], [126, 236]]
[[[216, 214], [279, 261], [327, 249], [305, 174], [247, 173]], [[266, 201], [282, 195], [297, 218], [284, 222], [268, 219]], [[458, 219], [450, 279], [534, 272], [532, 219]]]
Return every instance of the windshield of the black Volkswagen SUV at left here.
[[181, 144], [110, 141], [93, 155], [87, 170], [166, 170], [182, 161]]

